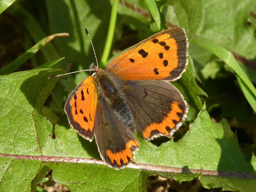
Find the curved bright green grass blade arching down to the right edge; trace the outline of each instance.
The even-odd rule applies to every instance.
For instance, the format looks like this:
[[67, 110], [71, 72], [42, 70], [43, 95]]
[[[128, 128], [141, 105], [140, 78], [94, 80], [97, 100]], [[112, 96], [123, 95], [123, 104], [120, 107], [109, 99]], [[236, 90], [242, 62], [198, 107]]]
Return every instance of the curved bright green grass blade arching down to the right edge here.
[[[217, 57], [222, 59], [226, 64], [228, 64], [235, 71], [235, 73], [237, 73], [239, 78], [241, 78], [241, 80], [244, 82], [243, 86], [247, 87], [247, 88], [243, 88], [243, 90], [245, 89], [250, 90], [250, 92], [247, 91], [246, 97], [253, 99], [252, 101], [248, 100], [248, 102], [252, 104], [251, 107], [256, 112], [256, 108], [255, 108], [256, 89], [254, 88], [254, 85], [251, 83], [249, 78], [246, 76], [242, 68], [239, 66], [239, 64], [235, 60], [233, 54], [228, 50], [226, 50], [224, 47], [206, 38], [194, 36], [194, 38], [192, 39], [192, 42], [212, 52], [214, 55], [216, 55]], [[248, 94], [250, 96], [248, 96]]]

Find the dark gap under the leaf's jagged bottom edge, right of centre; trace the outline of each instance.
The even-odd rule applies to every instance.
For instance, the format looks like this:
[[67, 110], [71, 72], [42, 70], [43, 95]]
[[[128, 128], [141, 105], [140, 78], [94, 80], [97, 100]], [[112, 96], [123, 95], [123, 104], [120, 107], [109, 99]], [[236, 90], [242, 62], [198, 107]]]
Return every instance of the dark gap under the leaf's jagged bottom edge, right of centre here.
[[[147, 177], [148, 192], [222, 192], [221, 187], [206, 189], [202, 186], [198, 178], [191, 181], [179, 183], [171, 178], [164, 178], [159, 175], [149, 175]], [[231, 192], [226, 190], [224, 192]], [[234, 191], [238, 192], [238, 191]]]

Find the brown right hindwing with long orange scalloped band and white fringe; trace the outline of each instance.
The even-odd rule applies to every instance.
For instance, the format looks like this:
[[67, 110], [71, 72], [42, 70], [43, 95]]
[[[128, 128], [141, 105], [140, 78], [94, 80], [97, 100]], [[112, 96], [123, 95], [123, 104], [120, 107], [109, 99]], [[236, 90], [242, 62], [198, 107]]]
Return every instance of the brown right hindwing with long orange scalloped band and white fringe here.
[[126, 102], [132, 111], [135, 127], [144, 139], [160, 135], [171, 137], [187, 114], [183, 95], [166, 81], [126, 81]]

